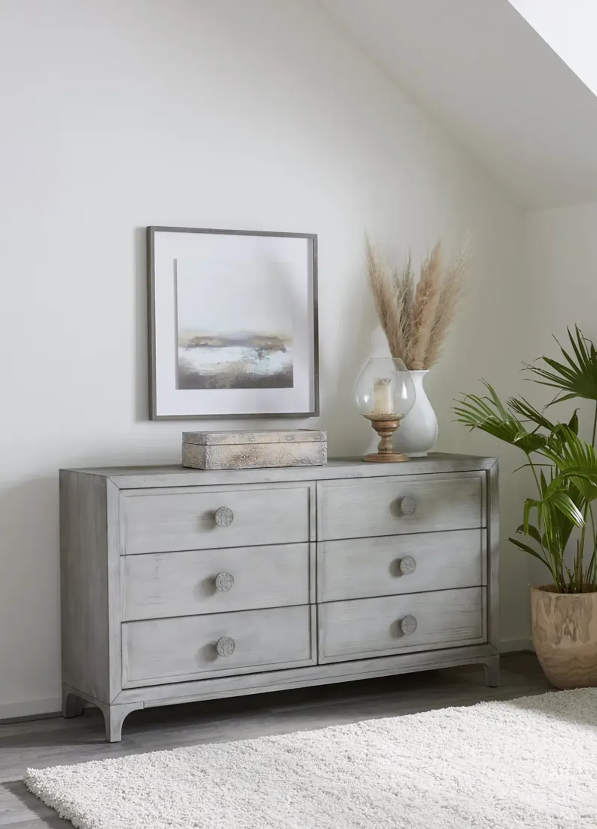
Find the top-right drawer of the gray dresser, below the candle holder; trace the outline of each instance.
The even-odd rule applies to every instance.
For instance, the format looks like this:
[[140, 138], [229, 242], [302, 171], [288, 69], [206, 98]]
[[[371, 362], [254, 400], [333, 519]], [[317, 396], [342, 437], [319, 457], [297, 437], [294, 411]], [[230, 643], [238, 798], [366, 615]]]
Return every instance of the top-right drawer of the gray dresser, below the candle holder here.
[[318, 482], [318, 538], [366, 538], [485, 526], [483, 473]]

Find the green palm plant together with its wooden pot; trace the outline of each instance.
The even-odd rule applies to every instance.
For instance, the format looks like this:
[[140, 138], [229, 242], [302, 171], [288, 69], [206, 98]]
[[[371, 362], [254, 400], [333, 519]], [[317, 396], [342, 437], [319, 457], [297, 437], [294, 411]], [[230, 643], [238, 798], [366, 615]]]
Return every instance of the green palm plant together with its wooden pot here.
[[[454, 407], [460, 423], [519, 448], [531, 469], [536, 497], [510, 541], [550, 571], [549, 584], [531, 588], [532, 635], [558, 688], [597, 686], [597, 351], [578, 327], [568, 337], [570, 348], [558, 342], [560, 360], [525, 366], [529, 379], [556, 390], [544, 409], [523, 397], [504, 404], [488, 383], [485, 395], [464, 395]], [[579, 435], [578, 410], [565, 423], [546, 414], [577, 399], [595, 403], [590, 441]]]

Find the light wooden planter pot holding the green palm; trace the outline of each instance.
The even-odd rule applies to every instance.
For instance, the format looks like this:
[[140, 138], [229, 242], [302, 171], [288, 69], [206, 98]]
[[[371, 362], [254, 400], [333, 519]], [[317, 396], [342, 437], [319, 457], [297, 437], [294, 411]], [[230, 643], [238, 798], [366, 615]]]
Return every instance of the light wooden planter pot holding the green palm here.
[[533, 644], [556, 688], [597, 686], [597, 593], [531, 587]]

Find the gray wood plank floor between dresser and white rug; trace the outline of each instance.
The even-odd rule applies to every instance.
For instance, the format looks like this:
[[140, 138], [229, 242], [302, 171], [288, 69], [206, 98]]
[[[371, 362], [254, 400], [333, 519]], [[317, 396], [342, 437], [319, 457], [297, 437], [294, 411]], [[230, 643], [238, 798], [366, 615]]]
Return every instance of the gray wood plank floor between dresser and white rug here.
[[235, 700], [135, 711], [124, 722], [122, 743], [104, 741], [99, 711], [73, 720], [61, 716], [0, 724], [0, 827], [72, 829], [27, 792], [29, 766], [81, 763], [182, 745], [248, 739], [262, 734], [323, 728], [355, 720], [411, 714], [449, 705], [506, 700], [553, 690], [536, 657], [502, 657], [502, 685], [485, 686], [483, 668], [426, 671], [342, 685], [260, 694]]

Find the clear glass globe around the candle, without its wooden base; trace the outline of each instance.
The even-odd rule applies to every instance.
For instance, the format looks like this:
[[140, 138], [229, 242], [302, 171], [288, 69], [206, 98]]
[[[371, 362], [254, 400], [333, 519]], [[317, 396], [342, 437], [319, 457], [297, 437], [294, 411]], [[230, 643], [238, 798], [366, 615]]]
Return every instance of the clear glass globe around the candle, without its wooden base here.
[[369, 420], [401, 420], [415, 405], [415, 385], [397, 357], [370, 357], [354, 395], [358, 410]]

